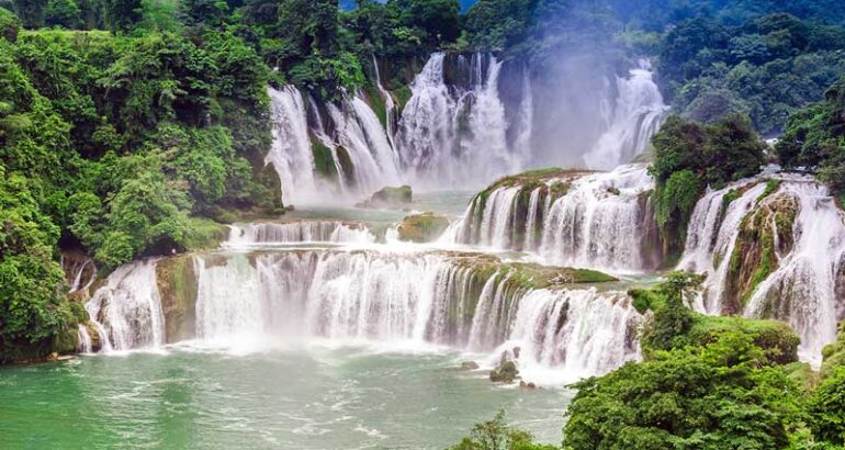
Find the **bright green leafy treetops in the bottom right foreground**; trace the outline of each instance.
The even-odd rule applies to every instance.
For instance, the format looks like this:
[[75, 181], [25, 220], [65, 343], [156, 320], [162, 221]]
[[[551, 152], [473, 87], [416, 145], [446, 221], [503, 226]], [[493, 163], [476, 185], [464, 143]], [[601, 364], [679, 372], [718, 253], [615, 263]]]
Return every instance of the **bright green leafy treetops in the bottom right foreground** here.
[[802, 429], [798, 386], [751, 336], [657, 352], [582, 381], [566, 413], [567, 449], [774, 449]]

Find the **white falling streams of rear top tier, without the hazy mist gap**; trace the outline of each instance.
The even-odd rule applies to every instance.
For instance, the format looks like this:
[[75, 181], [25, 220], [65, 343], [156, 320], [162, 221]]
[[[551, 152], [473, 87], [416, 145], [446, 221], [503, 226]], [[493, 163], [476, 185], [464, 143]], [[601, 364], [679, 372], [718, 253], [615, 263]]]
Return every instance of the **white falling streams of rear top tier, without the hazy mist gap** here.
[[[504, 64], [492, 54], [436, 53], [410, 85], [412, 97], [396, 120], [396, 104], [382, 86], [374, 58], [373, 65], [385, 124], [360, 94], [322, 105], [309, 97], [312, 112], [306, 113], [303, 95], [295, 88], [269, 89], [275, 125], [267, 160], [282, 179], [285, 202], [316, 200], [314, 188], [323, 182], [315, 176], [309, 133], [331, 151], [340, 190], [354, 195], [405, 181], [418, 188], [474, 188], [531, 165], [576, 162], [571, 156], [555, 159], [554, 155], [534, 154], [534, 144], [548, 140], [538, 135], [534, 117], [549, 112], [536, 111], [539, 106], [528, 67], [515, 72], [519, 76], [506, 77], [507, 86], [500, 87]], [[593, 149], [587, 155], [577, 153], [577, 161], [584, 160], [590, 168], [608, 169], [630, 161], [645, 147], [667, 109], [646, 60], [640, 60], [628, 78], [606, 85], [607, 89], [590, 95], [564, 93], [566, 99], [577, 97], [573, 100], [576, 105], [595, 104], [606, 116], [607, 123], [598, 127], [604, 134], [587, 142]], [[506, 104], [503, 90], [518, 94], [510, 94]], [[609, 95], [616, 99], [611, 101]], [[322, 123], [326, 116], [331, 122], [328, 128]]]

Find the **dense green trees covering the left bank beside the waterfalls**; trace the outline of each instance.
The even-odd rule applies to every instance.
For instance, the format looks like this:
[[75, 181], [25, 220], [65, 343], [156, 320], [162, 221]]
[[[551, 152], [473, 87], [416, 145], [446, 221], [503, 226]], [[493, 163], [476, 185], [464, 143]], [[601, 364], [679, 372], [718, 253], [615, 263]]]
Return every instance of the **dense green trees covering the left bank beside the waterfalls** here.
[[[76, 323], [58, 246], [108, 270], [202, 245], [227, 210], [281, 207], [259, 176], [271, 71], [230, 32], [22, 31], [0, 10], [0, 360]], [[262, 182], [263, 181], [263, 182]], [[84, 318], [84, 315], [81, 315]]]

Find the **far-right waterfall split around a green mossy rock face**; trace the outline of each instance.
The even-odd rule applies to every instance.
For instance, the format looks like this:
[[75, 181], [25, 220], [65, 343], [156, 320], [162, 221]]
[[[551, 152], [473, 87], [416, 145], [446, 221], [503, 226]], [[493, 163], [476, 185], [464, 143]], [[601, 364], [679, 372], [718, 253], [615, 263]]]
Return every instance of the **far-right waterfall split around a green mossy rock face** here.
[[845, 214], [809, 177], [743, 180], [698, 202], [678, 268], [708, 274], [700, 311], [788, 322], [819, 364], [845, 317]]

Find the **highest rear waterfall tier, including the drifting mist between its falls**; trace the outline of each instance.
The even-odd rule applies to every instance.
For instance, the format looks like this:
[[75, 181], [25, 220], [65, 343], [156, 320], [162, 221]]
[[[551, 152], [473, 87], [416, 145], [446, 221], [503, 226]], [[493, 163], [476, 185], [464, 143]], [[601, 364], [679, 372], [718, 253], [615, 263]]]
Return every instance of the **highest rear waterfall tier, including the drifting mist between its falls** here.
[[492, 54], [436, 53], [404, 104], [374, 66], [372, 89], [334, 103], [269, 89], [267, 161], [286, 203], [360, 200], [399, 183], [475, 189], [532, 166], [609, 169], [645, 147], [666, 111], [647, 61], [620, 77], [599, 61], [536, 72]]

